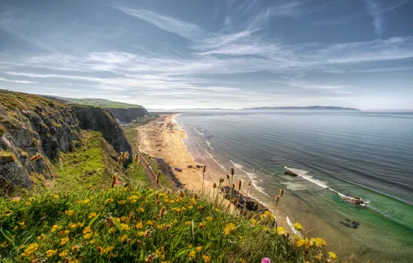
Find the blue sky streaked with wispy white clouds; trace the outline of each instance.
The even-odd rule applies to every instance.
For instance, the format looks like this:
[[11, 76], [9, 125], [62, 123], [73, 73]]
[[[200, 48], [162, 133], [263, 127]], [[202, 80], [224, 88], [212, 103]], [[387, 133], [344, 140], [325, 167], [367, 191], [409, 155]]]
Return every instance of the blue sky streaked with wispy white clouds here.
[[0, 89], [164, 109], [413, 109], [412, 14], [412, 0], [3, 0]]

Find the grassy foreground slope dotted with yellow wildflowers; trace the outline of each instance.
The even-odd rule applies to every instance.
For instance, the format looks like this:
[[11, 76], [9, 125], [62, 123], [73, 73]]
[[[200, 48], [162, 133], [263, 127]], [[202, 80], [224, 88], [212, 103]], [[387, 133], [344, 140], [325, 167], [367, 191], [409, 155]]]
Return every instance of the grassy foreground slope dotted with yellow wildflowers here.
[[225, 210], [192, 194], [131, 185], [1, 199], [1, 260], [326, 262], [323, 246], [276, 233], [271, 214], [251, 221]]

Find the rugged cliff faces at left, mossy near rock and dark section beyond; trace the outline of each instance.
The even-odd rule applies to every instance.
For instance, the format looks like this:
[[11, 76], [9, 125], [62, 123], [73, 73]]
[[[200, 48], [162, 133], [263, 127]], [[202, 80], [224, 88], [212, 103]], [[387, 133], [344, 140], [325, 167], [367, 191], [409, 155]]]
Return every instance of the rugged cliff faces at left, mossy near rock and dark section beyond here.
[[[0, 188], [10, 181], [27, 187], [30, 176], [50, 176], [60, 152], [80, 143], [80, 129], [100, 131], [116, 152], [132, 152], [121, 127], [103, 109], [0, 90]], [[30, 162], [37, 153], [44, 158]]]

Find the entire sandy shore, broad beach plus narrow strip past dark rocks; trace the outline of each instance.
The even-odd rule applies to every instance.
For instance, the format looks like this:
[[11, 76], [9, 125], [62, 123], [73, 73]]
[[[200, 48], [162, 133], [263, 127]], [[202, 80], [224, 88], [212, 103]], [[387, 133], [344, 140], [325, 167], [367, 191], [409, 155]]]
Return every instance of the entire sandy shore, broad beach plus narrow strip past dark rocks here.
[[[170, 167], [174, 170], [175, 167], [182, 169], [182, 172], [174, 171], [175, 176], [184, 185], [186, 190], [200, 192], [202, 190], [202, 181], [204, 182], [204, 190], [211, 190], [213, 183], [219, 185], [220, 179], [224, 179], [222, 187], [229, 185], [227, 181], [227, 174], [224, 168], [211, 156], [207, 150], [199, 145], [195, 138], [195, 134], [188, 131], [188, 127], [181, 126], [176, 120], [179, 114], [162, 115], [159, 117], [159, 121], [152, 120], [147, 125], [137, 128], [139, 130], [139, 151], [145, 152], [155, 158], [163, 158]], [[199, 131], [198, 131], [199, 132]], [[193, 165], [192, 168], [188, 168], [189, 165]], [[206, 172], [204, 174], [204, 180], [202, 180], [202, 168], [196, 168], [196, 165], [207, 165]], [[240, 178], [238, 173], [243, 170], [235, 167], [236, 174], [234, 174], [234, 184], [238, 185]], [[249, 181], [242, 180], [243, 187], [241, 188], [241, 194], [245, 195], [245, 187], [247, 187]], [[253, 180], [250, 181], [252, 187], [249, 190], [248, 197], [254, 199], [262, 206], [272, 211], [275, 204], [265, 203], [256, 198], [256, 193], [265, 194], [266, 197], [271, 199], [268, 194], [256, 189]], [[279, 207], [274, 215], [277, 219], [277, 224], [283, 226], [288, 232], [294, 233], [292, 225], [289, 224], [288, 216]]]

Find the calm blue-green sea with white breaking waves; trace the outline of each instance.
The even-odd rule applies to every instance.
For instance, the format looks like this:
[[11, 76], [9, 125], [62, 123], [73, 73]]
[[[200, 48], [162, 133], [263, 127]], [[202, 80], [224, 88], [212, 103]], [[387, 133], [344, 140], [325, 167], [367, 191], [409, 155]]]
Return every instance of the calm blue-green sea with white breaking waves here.
[[[243, 185], [252, 181], [267, 206], [285, 189], [277, 218], [324, 237], [342, 260], [413, 262], [413, 114], [231, 111], [177, 122]], [[285, 166], [301, 176], [285, 175]], [[360, 226], [340, 224], [346, 219]]]

